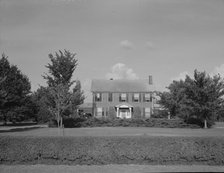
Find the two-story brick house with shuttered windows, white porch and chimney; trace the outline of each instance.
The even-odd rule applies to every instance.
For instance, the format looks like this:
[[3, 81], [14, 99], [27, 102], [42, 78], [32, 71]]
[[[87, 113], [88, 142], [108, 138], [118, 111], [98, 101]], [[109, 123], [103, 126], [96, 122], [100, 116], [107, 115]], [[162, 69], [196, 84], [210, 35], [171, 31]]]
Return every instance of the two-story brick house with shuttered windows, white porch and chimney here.
[[152, 76], [147, 80], [92, 80], [94, 117], [149, 118], [153, 111]]

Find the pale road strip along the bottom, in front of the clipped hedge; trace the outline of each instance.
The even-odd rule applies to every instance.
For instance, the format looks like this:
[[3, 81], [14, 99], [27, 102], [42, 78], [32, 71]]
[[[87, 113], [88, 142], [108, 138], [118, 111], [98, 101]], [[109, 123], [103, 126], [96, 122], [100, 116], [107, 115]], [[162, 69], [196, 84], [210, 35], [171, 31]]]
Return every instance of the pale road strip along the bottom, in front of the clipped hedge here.
[[224, 172], [224, 166], [206, 165], [0, 165], [1, 173], [147, 173], [147, 172]]

